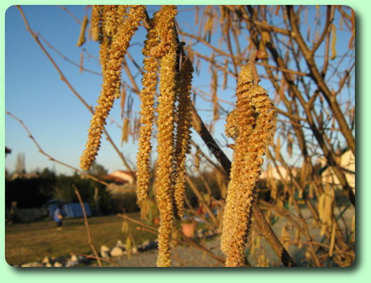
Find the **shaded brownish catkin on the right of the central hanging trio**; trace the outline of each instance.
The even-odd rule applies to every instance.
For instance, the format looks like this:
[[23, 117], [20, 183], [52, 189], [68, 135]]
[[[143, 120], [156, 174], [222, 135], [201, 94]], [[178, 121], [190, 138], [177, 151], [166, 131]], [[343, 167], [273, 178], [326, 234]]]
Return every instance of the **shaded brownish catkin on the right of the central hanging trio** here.
[[179, 75], [179, 96], [176, 113], [178, 115], [176, 126], [175, 145], [175, 168], [174, 173], [174, 198], [176, 204], [176, 217], [183, 218], [184, 189], [186, 187], [186, 154], [190, 152], [190, 126], [192, 121], [191, 112], [191, 82], [193, 78], [193, 66], [190, 59], [186, 58]]

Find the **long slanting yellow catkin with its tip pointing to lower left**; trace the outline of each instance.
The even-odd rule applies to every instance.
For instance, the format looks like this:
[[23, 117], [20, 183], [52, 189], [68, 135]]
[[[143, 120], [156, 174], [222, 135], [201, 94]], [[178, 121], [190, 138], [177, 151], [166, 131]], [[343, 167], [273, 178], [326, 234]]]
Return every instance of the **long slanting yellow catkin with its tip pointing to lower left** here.
[[106, 117], [113, 106], [115, 93], [118, 83], [120, 83], [121, 68], [123, 57], [130, 45], [130, 39], [134, 31], [138, 29], [139, 22], [145, 16], [145, 6], [132, 6], [125, 22], [120, 25], [116, 37], [111, 43], [109, 61], [107, 64], [106, 75], [104, 75], [102, 92], [98, 99], [98, 106], [95, 107], [94, 115], [90, 121], [90, 129], [85, 151], [80, 157], [80, 167], [88, 170], [95, 160], [100, 147], [100, 139], [106, 124]]

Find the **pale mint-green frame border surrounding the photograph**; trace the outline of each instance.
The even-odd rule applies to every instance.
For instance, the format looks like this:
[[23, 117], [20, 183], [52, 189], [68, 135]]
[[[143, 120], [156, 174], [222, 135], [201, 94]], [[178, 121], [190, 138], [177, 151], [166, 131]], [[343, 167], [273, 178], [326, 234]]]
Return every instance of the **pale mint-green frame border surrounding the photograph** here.
[[[1, 137], [5, 136], [5, 13], [9, 6], [14, 4], [20, 5], [41, 5], [41, 4], [55, 4], [55, 1], [29, 1], [21, 0], [17, 3], [12, 1], [3, 0], [0, 3], [1, 9], [1, 24], [0, 31], [3, 40], [0, 41], [0, 52], [1, 52], [1, 75], [0, 75], [0, 134]], [[104, 1], [59, 1], [57, 4], [92, 4], [102, 3]], [[134, 1], [145, 4], [159, 4], [158, 1]], [[227, 1], [176, 1], [180, 4], [223, 4]], [[249, 1], [251, 4], [262, 4], [260, 1]], [[330, 280], [331, 282], [362, 282], [371, 275], [371, 268], [369, 266], [370, 260], [369, 252], [370, 243], [367, 241], [367, 236], [370, 236], [370, 224], [367, 225], [365, 222], [365, 215], [370, 215], [371, 205], [367, 205], [367, 199], [370, 199], [370, 190], [367, 189], [367, 180], [363, 178], [363, 170], [367, 168], [367, 160], [370, 159], [370, 148], [363, 147], [363, 144], [367, 145], [370, 142], [371, 133], [367, 132], [364, 128], [363, 121], [371, 119], [371, 111], [367, 111], [367, 106], [370, 105], [371, 89], [370, 84], [366, 84], [367, 78], [371, 75], [371, 71], [367, 71], [367, 66], [371, 64], [370, 51], [371, 50], [371, 37], [370, 31], [367, 27], [371, 27], [371, 2], [365, 0], [353, 0], [353, 1], [297, 1], [289, 0], [284, 1], [265, 1], [264, 4], [310, 4], [310, 5], [324, 5], [324, 4], [342, 4], [349, 5], [356, 13], [356, 141], [357, 141], [357, 157], [356, 167], [357, 175], [356, 180], [358, 184], [358, 191], [360, 196], [357, 195], [357, 245], [356, 245], [356, 262], [349, 268], [246, 268], [239, 270], [230, 270], [230, 268], [171, 268], [171, 269], [160, 269], [160, 268], [12, 268], [8, 266], [5, 261], [5, 250], [4, 241], [1, 241], [1, 263], [0, 263], [0, 277], [2, 282], [80, 282], [87, 281], [102, 282], [103, 280], [117, 280], [119, 282], [128, 280], [134, 280], [136, 282], [186, 282], [188, 280], [194, 280], [195, 282], [225, 282], [226, 280], [258, 280], [258, 282], [265, 282], [267, 280], [272, 282], [291, 282], [299, 281], [304, 282], [325, 282]], [[122, 1], [110, 1], [110, 3], [123, 3]], [[160, 1], [160, 4], [173, 4], [174, 1]], [[228, 1], [228, 4], [246, 4], [246, 1]], [[367, 73], [368, 72], [368, 73]], [[363, 131], [364, 130], [364, 131]], [[0, 145], [3, 148], [5, 138], [1, 138]], [[360, 153], [359, 153], [360, 152]], [[0, 176], [4, 180], [4, 164], [5, 156], [1, 151], [1, 170]], [[4, 182], [1, 182], [1, 206], [4, 206]], [[5, 217], [4, 209], [1, 210], [1, 219]], [[3, 222], [4, 223], [4, 222]], [[364, 224], [364, 225], [363, 225]], [[1, 238], [4, 240], [5, 228], [1, 225]], [[362, 280], [362, 281], [361, 281]]]

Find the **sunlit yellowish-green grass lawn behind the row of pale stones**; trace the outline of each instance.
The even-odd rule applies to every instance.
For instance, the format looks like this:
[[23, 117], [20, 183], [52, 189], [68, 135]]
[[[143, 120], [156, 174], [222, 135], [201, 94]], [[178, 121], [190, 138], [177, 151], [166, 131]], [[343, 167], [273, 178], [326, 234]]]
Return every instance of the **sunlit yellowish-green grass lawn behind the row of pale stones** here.
[[[139, 213], [129, 216], [139, 220]], [[123, 218], [116, 215], [90, 217], [88, 222], [97, 251], [101, 245], [115, 246], [118, 240], [125, 243], [126, 235], [121, 233]], [[157, 235], [139, 231], [136, 227], [137, 224], [130, 223], [137, 244], [157, 238]], [[11, 265], [41, 261], [45, 256], [68, 256], [71, 252], [92, 253], [82, 218], [64, 219], [62, 231], [57, 231], [52, 220], [45, 220], [7, 225], [5, 233], [5, 257]]]

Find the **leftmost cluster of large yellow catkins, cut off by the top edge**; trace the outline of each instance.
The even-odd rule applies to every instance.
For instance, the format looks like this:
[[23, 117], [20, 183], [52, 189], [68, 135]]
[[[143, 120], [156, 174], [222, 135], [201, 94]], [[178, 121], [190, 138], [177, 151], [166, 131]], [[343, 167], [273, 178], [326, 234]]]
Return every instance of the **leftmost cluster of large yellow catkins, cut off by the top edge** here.
[[106, 118], [113, 101], [120, 94], [123, 59], [134, 32], [146, 16], [146, 6], [94, 5], [92, 8], [92, 38], [100, 43], [102, 92], [90, 121], [85, 151], [80, 167], [88, 170], [97, 156]]

